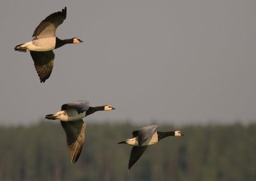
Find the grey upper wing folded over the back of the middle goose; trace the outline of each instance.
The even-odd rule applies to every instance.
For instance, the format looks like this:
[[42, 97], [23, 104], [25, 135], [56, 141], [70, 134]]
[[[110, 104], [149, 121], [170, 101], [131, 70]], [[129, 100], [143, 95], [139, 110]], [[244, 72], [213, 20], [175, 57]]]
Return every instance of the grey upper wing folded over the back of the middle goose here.
[[76, 109], [77, 113], [83, 113], [89, 109], [90, 107], [89, 103], [90, 103], [89, 101], [76, 101], [73, 103], [67, 103], [61, 106], [61, 111], [67, 110], [67, 109]]

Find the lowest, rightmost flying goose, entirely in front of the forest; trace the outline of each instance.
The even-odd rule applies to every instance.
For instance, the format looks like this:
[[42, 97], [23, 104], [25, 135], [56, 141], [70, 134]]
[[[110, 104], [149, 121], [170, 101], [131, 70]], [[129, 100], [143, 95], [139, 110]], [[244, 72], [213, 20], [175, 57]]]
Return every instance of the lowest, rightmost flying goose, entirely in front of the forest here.
[[180, 131], [160, 132], [156, 131], [156, 128], [157, 125], [142, 127], [132, 132], [131, 139], [118, 143], [133, 146], [128, 164], [129, 169], [140, 159], [148, 145], [153, 145], [167, 136], [184, 136]]

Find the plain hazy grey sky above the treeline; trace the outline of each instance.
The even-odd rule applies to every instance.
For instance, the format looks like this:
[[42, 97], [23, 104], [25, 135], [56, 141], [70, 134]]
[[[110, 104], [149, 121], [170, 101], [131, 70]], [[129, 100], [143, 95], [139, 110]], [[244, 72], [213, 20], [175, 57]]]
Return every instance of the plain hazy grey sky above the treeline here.
[[[54, 50], [51, 77], [40, 83], [29, 52], [13, 47], [65, 6], [58, 38], [84, 43]], [[254, 121], [255, 8], [236, 0], [1, 1], [0, 122], [37, 122], [79, 99], [116, 108], [91, 120]]]

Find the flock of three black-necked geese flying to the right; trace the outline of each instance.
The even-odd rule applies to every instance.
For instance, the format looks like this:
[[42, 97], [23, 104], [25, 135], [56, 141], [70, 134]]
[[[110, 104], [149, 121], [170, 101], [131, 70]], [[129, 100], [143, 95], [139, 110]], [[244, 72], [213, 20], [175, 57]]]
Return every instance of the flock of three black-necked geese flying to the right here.
[[[33, 40], [28, 43], [17, 45], [14, 49], [19, 52], [30, 52], [34, 61], [36, 72], [40, 82], [45, 82], [50, 76], [54, 62], [54, 52], [52, 50], [60, 48], [68, 43], [81, 43], [79, 38], [60, 40], [56, 37], [56, 29], [67, 17], [67, 7], [46, 17], [36, 27], [32, 37]], [[75, 101], [61, 106], [60, 112], [45, 115], [45, 119], [60, 120], [67, 136], [67, 147], [71, 163], [76, 163], [81, 154], [84, 144], [84, 132], [86, 123], [83, 118], [98, 112], [115, 110], [113, 106], [90, 106], [89, 101]], [[167, 136], [183, 136], [180, 131], [160, 132], [156, 131], [157, 126], [151, 125], [142, 127], [132, 132], [132, 138], [121, 141], [118, 144], [131, 145], [131, 155], [128, 168], [140, 159], [141, 155], [147, 149], [148, 145], [153, 145]]]

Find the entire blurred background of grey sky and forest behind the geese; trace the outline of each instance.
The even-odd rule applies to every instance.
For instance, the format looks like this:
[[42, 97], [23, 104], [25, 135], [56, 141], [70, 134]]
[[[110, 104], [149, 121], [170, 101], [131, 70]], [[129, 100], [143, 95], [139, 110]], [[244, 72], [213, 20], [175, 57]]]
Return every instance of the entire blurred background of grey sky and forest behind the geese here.
[[[0, 180], [256, 180], [256, 1], [1, 1]], [[45, 17], [67, 6], [51, 77], [29, 52]], [[112, 105], [86, 119], [70, 164], [59, 122], [44, 115], [84, 99]], [[180, 129], [129, 171], [134, 129]]]

